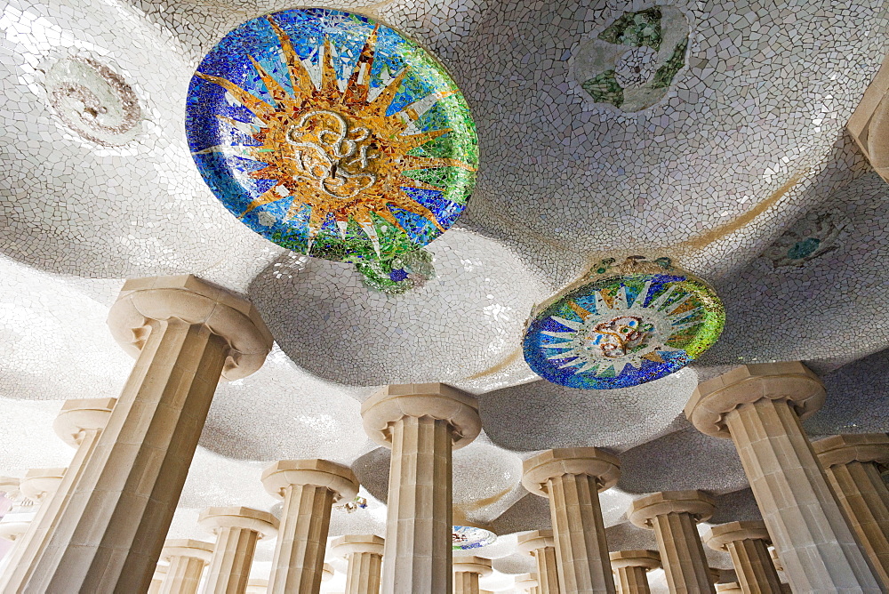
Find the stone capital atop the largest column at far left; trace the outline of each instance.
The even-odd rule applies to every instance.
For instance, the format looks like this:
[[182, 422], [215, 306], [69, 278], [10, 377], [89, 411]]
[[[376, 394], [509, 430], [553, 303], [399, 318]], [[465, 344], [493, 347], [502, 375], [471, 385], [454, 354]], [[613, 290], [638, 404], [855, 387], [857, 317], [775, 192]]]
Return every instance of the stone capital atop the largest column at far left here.
[[255, 372], [272, 348], [274, 339], [250, 301], [192, 275], [127, 280], [108, 312], [108, 327], [124, 350], [137, 357], [151, 322], [171, 318], [205, 325], [228, 341], [222, 370], [227, 380]]

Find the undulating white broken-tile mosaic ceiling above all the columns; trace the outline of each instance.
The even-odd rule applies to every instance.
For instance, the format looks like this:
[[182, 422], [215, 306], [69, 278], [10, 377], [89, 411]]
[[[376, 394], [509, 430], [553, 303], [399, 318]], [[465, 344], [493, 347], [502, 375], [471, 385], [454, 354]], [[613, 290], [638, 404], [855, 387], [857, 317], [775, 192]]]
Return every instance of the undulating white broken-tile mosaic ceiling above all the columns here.
[[[358, 409], [387, 382], [445, 381], [478, 395], [485, 432], [455, 454], [454, 498], [467, 526], [498, 534], [473, 551], [494, 559], [483, 587], [501, 592], [532, 570], [517, 554], [517, 532], [549, 526], [546, 502], [519, 485], [521, 460], [541, 449], [621, 454], [623, 476], [602, 504], [614, 550], [653, 545], [623, 513], [659, 489], [708, 489], [720, 502], [712, 521], [755, 517], [736, 454], [682, 416], [696, 383], [732, 365], [802, 359], [821, 373], [829, 398], [805, 421], [813, 436], [886, 429], [889, 387], [869, 378], [882, 377], [889, 341], [889, 186], [845, 132], [889, 52], [884, 0], [324, 6], [332, 11], [300, 13], [363, 15], [328, 45], [356, 60], [373, 52], [376, 65], [364, 87], [349, 86], [341, 68], [328, 79], [338, 96], [383, 97], [397, 60], [407, 60], [425, 68], [418, 80], [435, 84], [380, 102], [372, 124], [402, 125], [394, 114], [437, 93], [439, 107], [407, 120], [416, 134], [458, 129], [451, 145], [423, 155], [388, 147], [413, 161], [393, 157], [384, 167], [371, 158], [381, 145], [365, 142], [370, 132], [359, 140], [368, 126], [355, 108], [354, 121], [302, 122], [291, 146], [316, 152], [284, 159], [296, 165], [255, 152], [272, 103], [300, 100], [291, 83], [269, 89], [263, 72], [324, 80], [324, 68], [311, 69], [323, 62], [310, 58], [323, 41], [293, 46], [301, 67], [274, 60], [285, 38], [311, 25], [264, 17], [292, 7], [283, 0], [7, 0], [0, 8], [2, 474], [70, 458], [52, 436], [61, 400], [114, 396], [132, 365], [104, 325], [123, 279], [173, 273], [248, 295], [276, 337], [259, 373], [220, 386], [174, 537], [208, 539], [196, 526], [207, 505], [276, 511], [262, 468], [308, 457], [351, 464], [364, 485], [366, 506], [334, 510], [331, 536], [382, 534], [388, 452], [364, 437]], [[254, 41], [273, 49], [252, 71], [244, 56], [238, 68], [214, 66], [212, 52], [246, 21], [261, 34]], [[238, 89], [260, 83], [272, 103], [244, 110]], [[248, 124], [210, 125], [208, 106]], [[209, 132], [187, 137], [187, 121], [202, 117]], [[212, 150], [222, 137], [229, 147], [239, 141], [253, 165], [211, 166], [236, 158]], [[333, 173], [334, 161], [348, 175]], [[254, 175], [258, 167], [268, 175]], [[322, 205], [327, 218], [293, 207], [294, 172], [315, 184], [301, 186], [312, 188], [302, 204]], [[224, 183], [242, 194], [220, 201], [216, 175], [229, 175]], [[398, 190], [372, 208], [332, 207], [383, 176]], [[405, 241], [424, 247], [397, 253]], [[344, 244], [388, 258], [356, 266], [342, 257]], [[725, 308], [719, 340], [676, 373], [639, 385], [587, 390], [542, 380], [522, 344], [535, 307], [604, 259], [636, 255], [669, 258], [712, 287]], [[629, 291], [628, 309], [642, 288]], [[640, 305], [657, 299], [649, 297]], [[597, 297], [587, 298], [573, 302], [591, 312]], [[657, 309], [658, 320], [686, 313], [668, 309]], [[611, 314], [628, 318], [612, 330], [637, 332], [633, 316]], [[625, 369], [661, 365], [643, 357], [642, 342], [614, 344]], [[613, 373], [597, 370], [594, 379]], [[260, 545], [258, 574], [268, 571], [270, 546]], [[713, 566], [731, 566], [708, 555]], [[324, 588], [341, 590], [344, 567], [332, 563], [340, 575]]]

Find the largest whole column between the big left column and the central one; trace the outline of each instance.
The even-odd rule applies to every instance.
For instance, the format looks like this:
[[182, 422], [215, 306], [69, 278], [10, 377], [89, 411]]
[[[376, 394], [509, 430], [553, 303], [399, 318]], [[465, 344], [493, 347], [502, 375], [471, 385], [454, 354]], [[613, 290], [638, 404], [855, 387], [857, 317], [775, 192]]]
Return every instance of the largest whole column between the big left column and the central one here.
[[351, 469], [334, 462], [282, 460], [262, 473], [262, 484], [284, 499], [268, 591], [317, 594], [333, 503], [355, 497], [358, 480]]

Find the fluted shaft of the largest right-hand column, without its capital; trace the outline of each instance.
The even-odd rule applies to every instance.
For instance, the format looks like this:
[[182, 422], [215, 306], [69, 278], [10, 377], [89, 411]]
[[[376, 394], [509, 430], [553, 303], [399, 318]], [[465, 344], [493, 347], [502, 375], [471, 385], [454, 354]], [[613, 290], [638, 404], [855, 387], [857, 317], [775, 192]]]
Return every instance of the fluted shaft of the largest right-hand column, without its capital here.
[[725, 424], [793, 590], [880, 591], [789, 403], [740, 405]]

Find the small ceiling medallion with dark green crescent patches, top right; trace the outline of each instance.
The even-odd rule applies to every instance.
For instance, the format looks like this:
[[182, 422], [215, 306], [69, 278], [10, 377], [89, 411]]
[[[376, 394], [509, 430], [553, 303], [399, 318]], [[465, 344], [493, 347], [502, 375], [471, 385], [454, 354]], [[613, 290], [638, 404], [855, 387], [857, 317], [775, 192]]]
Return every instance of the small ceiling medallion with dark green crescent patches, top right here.
[[596, 103], [639, 111], [663, 99], [685, 67], [689, 26], [673, 6], [625, 12], [581, 44], [574, 79]]

